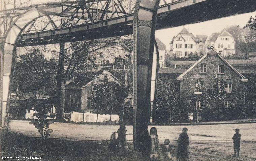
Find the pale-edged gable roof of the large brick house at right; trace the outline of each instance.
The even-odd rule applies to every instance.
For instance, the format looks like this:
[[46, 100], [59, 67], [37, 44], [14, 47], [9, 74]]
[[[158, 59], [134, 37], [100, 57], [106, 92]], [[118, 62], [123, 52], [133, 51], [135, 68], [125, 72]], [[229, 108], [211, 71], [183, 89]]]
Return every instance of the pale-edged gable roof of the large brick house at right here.
[[211, 50], [209, 53], [205, 54], [203, 57], [201, 57], [195, 64], [193, 64], [188, 70], [186, 70], [184, 73], [179, 75], [177, 77], [177, 80], [183, 80], [183, 76], [187, 74], [191, 69], [193, 69], [198, 63], [200, 63], [204, 58], [206, 58], [208, 55], [217, 55], [224, 63], [226, 63], [232, 70], [234, 70], [237, 75], [241, 77], [242, 82], [247, 82], [248, 79], [244, 75], [242, 75], [239, 71], [237, 71], [232, 65], [230, 65], [222, 56], [220, 56], [216, 51]]

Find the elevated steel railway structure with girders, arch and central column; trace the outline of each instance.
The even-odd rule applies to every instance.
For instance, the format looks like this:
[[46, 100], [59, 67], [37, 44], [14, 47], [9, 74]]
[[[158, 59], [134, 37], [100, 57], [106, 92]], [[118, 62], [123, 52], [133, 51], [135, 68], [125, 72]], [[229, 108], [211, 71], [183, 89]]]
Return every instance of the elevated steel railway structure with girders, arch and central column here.
[[133, 34], [133, 134], [135, 149], [139, 150], [146, 144], [143, 136], [150, 118], [152, 75], [154, 80], [157, 77], [157, 70], [152, 70], [155, 30], [256, 10], [255, 0], [173, 0], [171, 3], [163, 0], [161, 3], [159, 6], [160, 0], [62, 0], [0, 11], [0, 117], [8, 112], [16, 47]]

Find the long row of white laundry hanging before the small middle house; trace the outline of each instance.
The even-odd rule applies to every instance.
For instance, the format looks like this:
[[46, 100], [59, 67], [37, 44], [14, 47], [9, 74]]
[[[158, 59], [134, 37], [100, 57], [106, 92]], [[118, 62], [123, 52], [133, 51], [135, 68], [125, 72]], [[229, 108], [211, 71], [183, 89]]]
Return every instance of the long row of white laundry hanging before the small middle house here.
[[[97, 113], [79, 113], [71, 111], [70, 121], [74, 122], [106, 122], [110, 120], [110, 115], [101, 115]], [[119, 122], [118, 115], [111, 115], [111, 121]]]

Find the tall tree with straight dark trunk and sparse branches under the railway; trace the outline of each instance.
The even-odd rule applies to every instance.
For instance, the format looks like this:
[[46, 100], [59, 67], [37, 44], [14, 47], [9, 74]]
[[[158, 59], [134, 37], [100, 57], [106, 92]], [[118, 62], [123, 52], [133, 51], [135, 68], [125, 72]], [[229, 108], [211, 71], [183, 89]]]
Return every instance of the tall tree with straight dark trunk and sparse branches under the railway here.
[[[64, 105], [65, 105], [65, 85], [67, 80], [74, 80], [77, 77], [95, 77], [98, 71], [95, 63], [95, 55], [99, 55], [100, 49], [115, 48], [119, 44], [121, 37], [95, 39], [81, 42], [72, 42], [67, 44], [60, 44], [59, 65], [57, 72], [57, 89], [58, 89], [58, 107], [57, 118], [63, 120]], [[109, 51], [108, 51], [109, 52]], [[109, 52], [110, 53], [110, 52]], [[110, 53], [113, 54], [113, 53]], [[67, 62], [67, 67], [64, 70], [64, 63]]]

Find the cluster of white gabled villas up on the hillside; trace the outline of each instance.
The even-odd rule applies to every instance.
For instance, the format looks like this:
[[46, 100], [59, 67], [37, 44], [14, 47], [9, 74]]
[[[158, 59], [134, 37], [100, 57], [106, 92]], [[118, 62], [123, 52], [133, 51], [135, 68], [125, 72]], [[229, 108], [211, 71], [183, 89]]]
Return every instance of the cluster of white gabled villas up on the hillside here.
[[231, 56], [235, 54], [235, 41], [233, 36], [224, 30], [217, 37], [207, 35], [196, 35], [183, 29], [177, 36], [172, 38], [170, 43], [170, 54], [176, 57], [187, 57], [190, 53], [204, 55], [214, 47], [221, 56]]

